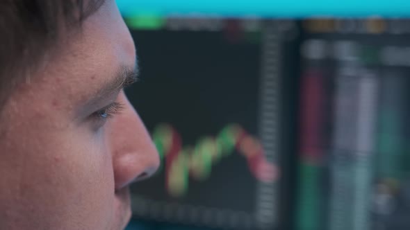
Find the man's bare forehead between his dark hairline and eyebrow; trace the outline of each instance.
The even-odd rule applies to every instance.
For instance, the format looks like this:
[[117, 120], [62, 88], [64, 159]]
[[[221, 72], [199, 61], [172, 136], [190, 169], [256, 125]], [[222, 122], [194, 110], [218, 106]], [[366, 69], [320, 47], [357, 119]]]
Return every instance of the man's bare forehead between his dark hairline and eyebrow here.
[[[90, 15], [81, 33], [67, 39], [67, 47], [60, 50], [63, 57], [51, 64], [79, 87], [82, 82], [92, 93], [94, 84], [106, 82], [116, 75], [119, 67], [132, 67], [136, 62], [136, 50], [128, 28], [117, 9], [115, 1], [106, 1], [97, 12]], [[98, 90], [98, 89], [95, 89]]]

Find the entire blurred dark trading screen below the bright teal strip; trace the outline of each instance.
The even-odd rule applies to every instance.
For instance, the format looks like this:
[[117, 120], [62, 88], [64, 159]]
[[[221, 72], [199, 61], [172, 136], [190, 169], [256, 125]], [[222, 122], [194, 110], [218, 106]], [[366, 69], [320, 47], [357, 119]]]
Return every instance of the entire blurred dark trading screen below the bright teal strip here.
[[126, 21], [161, 157], [129, 229], [409, 229], [410, 21]]

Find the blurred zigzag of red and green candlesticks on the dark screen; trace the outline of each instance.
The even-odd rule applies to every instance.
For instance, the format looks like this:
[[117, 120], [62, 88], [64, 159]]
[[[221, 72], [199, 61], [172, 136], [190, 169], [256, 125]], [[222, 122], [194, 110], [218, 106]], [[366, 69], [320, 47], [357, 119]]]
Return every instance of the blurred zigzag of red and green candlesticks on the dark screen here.
[[188, 191], [189, 177], [208, 179], [213, 165], [233, 152], [245, 157], [249, 172], [260, 182], [272, 183], [278, 177], [277, 166], [267, 161], [260, 141], [240, 125], [227, 125], [217, 136], [204, 136], [193, 146], [183, 146], [177, 130], [161, 124], [154, 129], [152, 139], [161, 161], [165, 161], [165, 187], [174, 197]]

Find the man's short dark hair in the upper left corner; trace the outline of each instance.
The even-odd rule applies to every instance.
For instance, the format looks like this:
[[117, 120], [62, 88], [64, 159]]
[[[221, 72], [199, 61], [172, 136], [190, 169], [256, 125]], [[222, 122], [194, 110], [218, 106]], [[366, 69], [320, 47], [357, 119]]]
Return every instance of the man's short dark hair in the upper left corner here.
[[81, 28], [104, 0], [0, 1], [0, 111], [26, 71], [56, 46], [62, 30]]

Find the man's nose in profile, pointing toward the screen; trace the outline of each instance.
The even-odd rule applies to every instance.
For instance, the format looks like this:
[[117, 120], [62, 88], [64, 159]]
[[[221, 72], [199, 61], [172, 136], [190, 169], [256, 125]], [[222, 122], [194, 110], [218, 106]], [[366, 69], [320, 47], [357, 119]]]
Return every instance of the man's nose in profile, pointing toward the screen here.
[[159, 155], [135, 109], [122, 92], [118, 98], [124, 111], [110, 121], [115, 190], [150, 177], [159, 166]]

